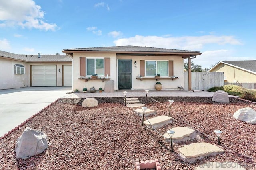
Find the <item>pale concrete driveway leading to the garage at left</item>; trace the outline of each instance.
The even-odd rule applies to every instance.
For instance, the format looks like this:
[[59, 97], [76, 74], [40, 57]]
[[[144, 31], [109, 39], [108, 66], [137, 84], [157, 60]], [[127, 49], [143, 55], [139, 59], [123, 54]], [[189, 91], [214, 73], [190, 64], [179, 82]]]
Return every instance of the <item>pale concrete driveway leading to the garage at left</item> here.
[[72, 87], [0, 90], [0, 137], [70, 91]]

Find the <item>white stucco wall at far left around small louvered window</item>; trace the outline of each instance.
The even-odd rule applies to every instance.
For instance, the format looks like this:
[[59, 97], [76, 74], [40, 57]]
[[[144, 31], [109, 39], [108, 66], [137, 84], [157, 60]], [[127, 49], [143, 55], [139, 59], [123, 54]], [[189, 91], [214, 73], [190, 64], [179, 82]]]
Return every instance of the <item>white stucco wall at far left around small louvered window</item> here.
[[[27, 62], [0, 58], [0, 89], [30, 86], [30, 66]], [[14, 64], [25, 67], [25, 74], [14, 74]]]

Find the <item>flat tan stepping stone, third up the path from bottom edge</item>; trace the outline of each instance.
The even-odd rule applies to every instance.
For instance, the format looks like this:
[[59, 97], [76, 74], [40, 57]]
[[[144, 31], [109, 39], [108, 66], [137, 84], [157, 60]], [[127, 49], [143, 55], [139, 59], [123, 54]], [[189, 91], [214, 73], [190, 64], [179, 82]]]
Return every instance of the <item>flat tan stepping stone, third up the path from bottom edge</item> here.
[[[185, 142], [196, 138], [196, 131], [188, 127], [173, 127], [171, 130], [175, 132], [172, 137], [173, 143]], [[163, 136], [166, 142], [171, 141], [168, 133], [165, 133]]]

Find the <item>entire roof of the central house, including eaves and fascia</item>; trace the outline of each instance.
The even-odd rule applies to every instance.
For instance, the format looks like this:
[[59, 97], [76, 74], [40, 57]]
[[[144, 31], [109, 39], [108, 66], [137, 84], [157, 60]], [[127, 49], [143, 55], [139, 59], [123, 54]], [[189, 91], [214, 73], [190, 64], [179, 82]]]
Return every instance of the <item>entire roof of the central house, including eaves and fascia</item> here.
[[177, 49], [165, 49], [154, 47], [140, 47], [140, 46], [113, 46], [113, 47], [93, 47], [93, 48], [75, 48], [64, 49], [62, 52], [73, 55], [75, 52], [104, 52], [104, 53], [120, 53], [120, 54], [179, 54], [186, 57], [200, 55], [199, 51], [177, 50]]

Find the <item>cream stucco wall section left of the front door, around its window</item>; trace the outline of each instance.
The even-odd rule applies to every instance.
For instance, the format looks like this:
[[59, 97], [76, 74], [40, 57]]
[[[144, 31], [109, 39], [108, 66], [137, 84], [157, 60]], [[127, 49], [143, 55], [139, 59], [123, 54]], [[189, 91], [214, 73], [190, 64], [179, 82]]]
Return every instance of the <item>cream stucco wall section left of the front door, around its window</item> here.
[[[109, 57], [110, 58], [110, 73], [111, 75], [108, 76], [111, 80], [114, 80], [114, 89], [117, 90], [116, 78], [117, 78], [117, 69], [116, 69], [116, 54], [115, 53], [74, 53], [73, 55], [73, 90], [78, 89], [82, 91], [83, 88], [87, 88], [90, 90], [91, 87], [94, 87], [98, 90], [100, 87], [105, 88], [105, 81], [102, 80], [79, 80], [80, 77], [80, 57]], [[106, 80], [108, 81], [108, 80]]]

